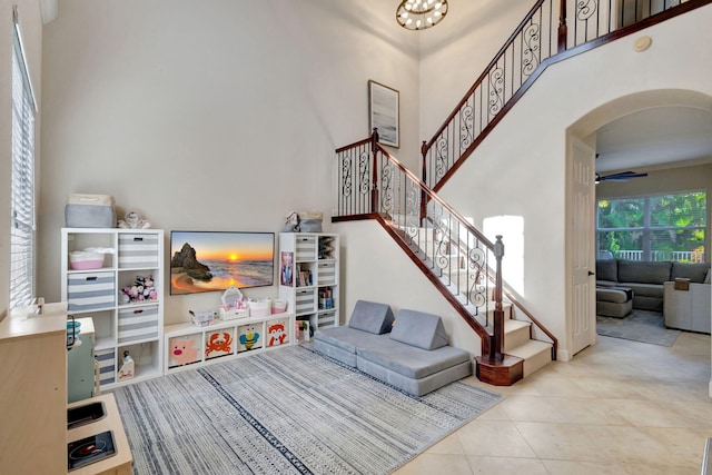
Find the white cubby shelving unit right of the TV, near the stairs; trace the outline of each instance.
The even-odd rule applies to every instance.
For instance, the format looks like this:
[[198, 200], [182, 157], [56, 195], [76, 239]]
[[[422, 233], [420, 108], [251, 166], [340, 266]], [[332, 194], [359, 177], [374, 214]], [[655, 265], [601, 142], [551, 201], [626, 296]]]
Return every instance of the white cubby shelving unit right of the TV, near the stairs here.
[[310, 333], [339, 326], [339, 237], [327, 232], [279, 234], [279, 298]]

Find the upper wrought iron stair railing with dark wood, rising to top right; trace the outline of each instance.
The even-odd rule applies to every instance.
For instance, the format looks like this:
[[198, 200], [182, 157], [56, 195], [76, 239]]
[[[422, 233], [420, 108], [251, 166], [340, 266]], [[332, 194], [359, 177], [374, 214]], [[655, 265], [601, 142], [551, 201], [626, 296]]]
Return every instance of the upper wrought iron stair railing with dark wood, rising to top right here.
[[538, 0], [432, 139], [422, 179], [437, 191], [548, 66], [712, 0]]

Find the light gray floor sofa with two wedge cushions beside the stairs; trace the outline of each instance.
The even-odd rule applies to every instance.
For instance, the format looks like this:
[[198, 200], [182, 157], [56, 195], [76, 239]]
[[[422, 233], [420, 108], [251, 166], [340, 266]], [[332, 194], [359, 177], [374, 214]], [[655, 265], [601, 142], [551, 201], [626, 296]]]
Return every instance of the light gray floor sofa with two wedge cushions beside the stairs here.
[[319, 330], [314, 349], [423, 396], [472, 374], [469, 353], [448, 345], [437, 315], [358, 300], [346, 326]]

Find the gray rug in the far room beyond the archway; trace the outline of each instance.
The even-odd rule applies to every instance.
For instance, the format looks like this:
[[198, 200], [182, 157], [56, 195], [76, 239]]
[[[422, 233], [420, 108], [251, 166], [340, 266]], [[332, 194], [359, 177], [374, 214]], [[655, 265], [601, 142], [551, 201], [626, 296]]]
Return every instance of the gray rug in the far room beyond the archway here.
[[660, 346], [673, 346], [680, 335], [680, 330], [665, 328], [663, 314], [637, 309], [623, 318], [597, 316], [596, 333]]

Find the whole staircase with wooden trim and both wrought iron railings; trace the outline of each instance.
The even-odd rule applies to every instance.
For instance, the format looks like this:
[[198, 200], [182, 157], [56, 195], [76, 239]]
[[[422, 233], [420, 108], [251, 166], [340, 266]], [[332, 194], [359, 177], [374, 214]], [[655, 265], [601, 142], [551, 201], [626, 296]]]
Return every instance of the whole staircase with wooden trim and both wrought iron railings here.
[[502, 237], [491, 243], [436, 191], [547, 66], [711, 2], [538, 0], [435, 136], [423, 142], [422, 177], [380, 147], [377, 130], [336, 150], [340, 194], [332, 220], [375, 219], [398, 243], [481, 338], [481, 380], [516, 383], [555, 359], [557, 340], [504, 290]]

